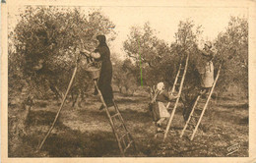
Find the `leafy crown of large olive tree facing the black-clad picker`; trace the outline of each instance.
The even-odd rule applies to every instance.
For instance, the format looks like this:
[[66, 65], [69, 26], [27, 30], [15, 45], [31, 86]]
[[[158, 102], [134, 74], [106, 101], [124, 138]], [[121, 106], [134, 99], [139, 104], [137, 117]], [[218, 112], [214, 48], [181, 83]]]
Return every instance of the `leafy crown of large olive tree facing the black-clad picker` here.
[[[9, 33], [9, 88], [20, 80], [28, 83], [30, 94], [54, 92], [61, 97], [75, 67], [76, 50], [94, 50], [97, 34], [106, 34], [108, 41], [115, 38], [114, 24], [99, 10], [84, 13], [81, 8], [26, 8]], [[86, 91], [90, 84], [84, 64], [72, 92]]]

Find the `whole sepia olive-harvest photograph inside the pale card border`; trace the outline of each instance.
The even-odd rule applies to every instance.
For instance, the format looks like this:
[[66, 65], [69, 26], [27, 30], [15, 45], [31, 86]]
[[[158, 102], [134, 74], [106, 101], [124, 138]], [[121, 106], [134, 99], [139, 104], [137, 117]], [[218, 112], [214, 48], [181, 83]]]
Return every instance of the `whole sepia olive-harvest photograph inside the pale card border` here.
[[5, 4], [8, 158], [255, 154], [248, 5]]

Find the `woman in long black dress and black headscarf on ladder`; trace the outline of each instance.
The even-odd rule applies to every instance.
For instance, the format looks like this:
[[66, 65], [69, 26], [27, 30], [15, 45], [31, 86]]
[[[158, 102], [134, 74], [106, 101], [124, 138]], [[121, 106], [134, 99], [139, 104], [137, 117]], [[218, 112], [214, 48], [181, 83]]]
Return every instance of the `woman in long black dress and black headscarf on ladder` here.
[[[110, 50], [105, 43], [104, 35], [97, 35], [96, 39], [99, 44], [96, 47], [95, 53], [99, 53], [100, 57], [96, 61], [100, 61], [101, 71], [98, 79], [98, 89], [100, 90], [104, 102], [107, 107], [113, 106], [113, 91], [111, 86], [112, 81], [112, 63], [110, 61]], [[101, 105], [99, 110], [103, 109], [104, 106]]]

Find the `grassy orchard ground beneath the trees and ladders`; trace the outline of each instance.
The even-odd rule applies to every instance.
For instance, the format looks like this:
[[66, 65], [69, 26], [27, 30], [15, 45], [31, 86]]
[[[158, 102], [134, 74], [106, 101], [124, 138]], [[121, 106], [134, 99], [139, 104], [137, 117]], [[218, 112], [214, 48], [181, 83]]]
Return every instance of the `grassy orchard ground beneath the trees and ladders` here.
[[[238, 151], [228, 156], [248, 156], [248, 101], [221, 98], [210, 103], [202, 121], [202, 128], [193, 141], [180, 138], [184, 126], [179, 107], [164, 143], [162, 136], [154, 138], [155, 128], [148, 112], [149, 97], [124, 96], [115, 93], [116, 102], [128, 130], [141, 151], [132, 153], [148, 157], [225, 157], [227, 147], [239, 144]], [[49, 129], [59, 103], [54, 100], [37, 101], [32, 107], [26, 133], [17, 130], [23, 115], [18, 102], [8, 108], [9, 157], [112, 157], [120, 156], [117, 142], [104, 111], [99, 111], [98, 97], [89, 97], [82, 108], [66, 104], [51, 135], [42, 149], [36, 147]]]

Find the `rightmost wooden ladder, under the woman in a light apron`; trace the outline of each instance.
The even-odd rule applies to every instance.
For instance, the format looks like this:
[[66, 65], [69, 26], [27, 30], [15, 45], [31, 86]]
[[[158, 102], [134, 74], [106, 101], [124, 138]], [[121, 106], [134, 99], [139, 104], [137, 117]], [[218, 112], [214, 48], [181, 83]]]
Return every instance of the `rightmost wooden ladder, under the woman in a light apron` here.
[[[221, 68], [222, 68], [222, 63], [220, 64], [220, 67], [219, 67], [219, 70], [218, 70], [218, 74], [216, 76], [216, 79], [213, 83], [213, 86], [211, 88], [211, 91], [210, 93], [208, 94], [208, 97], [206, 98], [207, 100], [201, 98], [201, 94], [199, 94], [196, 98], [196, 101], [194, 102], [194, 105], [193, 105], [193, 108], [190, 112], [190, 115], [189, 115], [189, 118], [188, 120], [186, 121], [186, 124], [181, 132], [181, 135], [180, 137], [182, 137], [184, 135], [184, 133], [188, 133], [188, 134], [192, 134], [191, 137], [190, 137], [190, 140], [193, 140], [197, 130], [198, 130], [198, 127], [202, 121], [202, 118], [205, 114], [205, 111], [207, 109], [207, 106], [208, 106], [208, 103], [211, 99], [211, 96], [213, 94], [213, 91], [215, 89], [215, 85], [216, 85], [216, 82], [218, 81], [219, 79], [219, 76], [220, 76], [220, 72], [221, 72]], [[200, 106], [203, 104], [203, 107]], [[187, 130], [188, 127], [192, 127], [193, 128], [193, 131], [191, 130]]]

